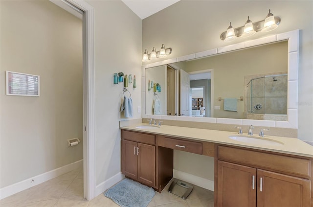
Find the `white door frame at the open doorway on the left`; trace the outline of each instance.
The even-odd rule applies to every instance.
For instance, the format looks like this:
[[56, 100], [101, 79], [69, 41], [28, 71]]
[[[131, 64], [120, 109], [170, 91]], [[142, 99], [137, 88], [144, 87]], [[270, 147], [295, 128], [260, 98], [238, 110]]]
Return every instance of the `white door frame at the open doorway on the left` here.
[[[50, 0], [83, 11], [83, 113], [84, 113], [84, 197], [95, 197], [95, 133], [94, 133], [94, 22], [93, 7], [84, 0]], [[62, 7], [64, 8], [64, 7]], [[66, 8], [64, 8], [66, 9]], [[67, 10], [67, 9], [66, 9]], [[67, 10], [69, 11], [69, 10]], [[72, 11], [69, 11], [72, 13]]]

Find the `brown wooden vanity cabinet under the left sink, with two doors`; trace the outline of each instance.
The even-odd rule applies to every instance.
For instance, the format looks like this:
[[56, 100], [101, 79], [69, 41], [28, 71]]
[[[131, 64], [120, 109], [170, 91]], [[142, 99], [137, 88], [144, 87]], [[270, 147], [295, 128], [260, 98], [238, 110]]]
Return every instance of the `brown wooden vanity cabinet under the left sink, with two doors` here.
[[161, 192], [173, 177], [173, 149], [156, 145], [156, 135], [122, 130], [122, 173]]

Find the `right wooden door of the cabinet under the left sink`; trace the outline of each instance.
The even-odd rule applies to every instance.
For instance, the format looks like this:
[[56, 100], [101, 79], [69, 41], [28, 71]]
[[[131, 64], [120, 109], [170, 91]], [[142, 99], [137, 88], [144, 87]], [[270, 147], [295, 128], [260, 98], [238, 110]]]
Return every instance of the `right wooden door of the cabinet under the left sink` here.
[[138, 143], [138, 181], [156, 187], [156, 147]]

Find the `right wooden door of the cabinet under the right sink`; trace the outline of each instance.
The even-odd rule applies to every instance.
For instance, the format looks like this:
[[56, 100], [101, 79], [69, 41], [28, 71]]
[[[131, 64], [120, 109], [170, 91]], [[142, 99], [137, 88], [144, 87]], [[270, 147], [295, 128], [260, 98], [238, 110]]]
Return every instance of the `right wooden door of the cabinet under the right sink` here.
[[310, 207], [311, 181], [258, 169], [257, 207]]

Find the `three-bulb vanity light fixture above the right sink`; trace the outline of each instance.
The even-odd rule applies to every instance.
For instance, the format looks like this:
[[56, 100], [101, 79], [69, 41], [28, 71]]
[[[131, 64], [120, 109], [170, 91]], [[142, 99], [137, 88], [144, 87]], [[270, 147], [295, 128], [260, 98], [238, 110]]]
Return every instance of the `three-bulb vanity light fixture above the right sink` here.
[[[231, 41], [236, 39], [236, 37], [250, 37], [254, 35], [256, 32], [269, 32], [276, 29], [281, 22], [280, 17], [274, 17], [272, 13], [270, 13], [270, 9], [268, 15], [265, 20], [252, 23], [251, 20], [246, 21], [245, 26], [233, 28], [231, 24], [229, 24], [227, 31], [224, 31], [221, 34], [221, 40]], [[235, 37], [234, 37], [235, 36]]]

